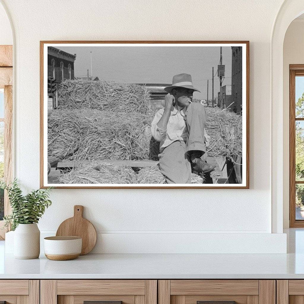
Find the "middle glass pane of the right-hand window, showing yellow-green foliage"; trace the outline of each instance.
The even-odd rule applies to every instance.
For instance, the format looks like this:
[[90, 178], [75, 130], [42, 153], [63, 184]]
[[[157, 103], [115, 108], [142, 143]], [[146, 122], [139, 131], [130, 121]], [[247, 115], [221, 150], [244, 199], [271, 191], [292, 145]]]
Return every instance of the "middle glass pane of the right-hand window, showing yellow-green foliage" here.
[[304, 181], [304, 121], [295, 122], [295, 180]]

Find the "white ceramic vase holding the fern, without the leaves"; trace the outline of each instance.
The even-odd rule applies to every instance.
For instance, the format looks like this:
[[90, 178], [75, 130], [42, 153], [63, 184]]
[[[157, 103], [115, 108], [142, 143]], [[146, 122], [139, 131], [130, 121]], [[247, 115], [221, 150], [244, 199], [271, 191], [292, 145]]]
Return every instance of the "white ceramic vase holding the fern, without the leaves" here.
[[40, 254], [40, 230], [36, 223], [19, 224], [14, 231], [14, 257], [36, 259]]

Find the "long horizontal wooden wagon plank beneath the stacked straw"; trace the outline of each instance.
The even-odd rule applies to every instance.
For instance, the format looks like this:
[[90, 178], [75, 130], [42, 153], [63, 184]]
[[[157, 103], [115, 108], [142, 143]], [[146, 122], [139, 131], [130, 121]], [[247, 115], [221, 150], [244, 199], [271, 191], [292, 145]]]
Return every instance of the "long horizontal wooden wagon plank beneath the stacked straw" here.
[[73, 168], [73, 167], [79, 167], [79, 166], [85, 166], [85, 165], [102, 165], [102, 164], [112, 164], [113, 166], [121, 167], [152, 167], [156, 164], [158, 164], [158, 161], [59, 161], [57, 164], [57, 168]]

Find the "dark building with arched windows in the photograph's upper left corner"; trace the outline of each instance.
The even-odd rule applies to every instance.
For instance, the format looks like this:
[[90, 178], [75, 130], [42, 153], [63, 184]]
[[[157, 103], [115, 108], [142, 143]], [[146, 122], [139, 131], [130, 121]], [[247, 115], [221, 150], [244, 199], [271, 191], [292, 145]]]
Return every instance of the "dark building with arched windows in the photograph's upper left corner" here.
[[58, 84], [64, 79], [74, 79], [74, 61], [76, 54], [72, 55], [56, 47], [47, 48], [47, 76], [55, 79], [56, 97], [55, 106], [58, 100]]

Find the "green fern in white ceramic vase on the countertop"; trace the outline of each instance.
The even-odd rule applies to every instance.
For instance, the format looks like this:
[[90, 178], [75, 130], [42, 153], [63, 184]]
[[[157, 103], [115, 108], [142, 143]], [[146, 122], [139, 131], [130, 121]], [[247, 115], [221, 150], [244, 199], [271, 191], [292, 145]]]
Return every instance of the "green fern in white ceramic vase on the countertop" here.
[[9, 185], [0, 182], [0, 188], [8, 193], [12, 213], [5, 216], [5, 225], [14, 230], [14, 257], [35, 259], [40, 254], [40, 231], [37, 223], [52, 202], [48, 199], [51, 188], [38, 189], [22, 194], [18, 181]]

